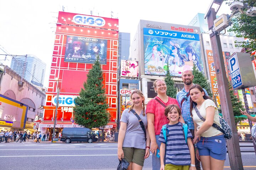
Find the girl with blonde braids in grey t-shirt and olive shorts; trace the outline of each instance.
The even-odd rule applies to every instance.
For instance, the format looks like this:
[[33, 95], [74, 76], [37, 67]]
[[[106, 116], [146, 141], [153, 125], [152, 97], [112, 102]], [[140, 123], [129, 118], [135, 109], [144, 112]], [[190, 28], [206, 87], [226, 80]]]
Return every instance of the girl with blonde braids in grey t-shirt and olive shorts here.
[[150, 154], [145, 98], [140, 90], [135, 90], [131, 99], [132, 107], [123, 111], [120, 120], [117, 156], [119, 160], [124, 158], [130, 163], [129, 170], [142, 170], [144, 159]]

